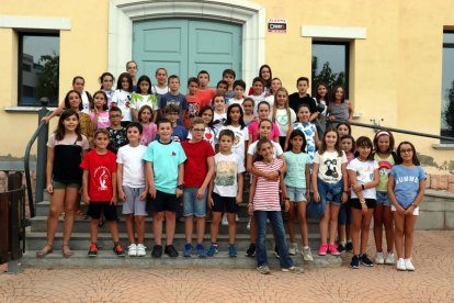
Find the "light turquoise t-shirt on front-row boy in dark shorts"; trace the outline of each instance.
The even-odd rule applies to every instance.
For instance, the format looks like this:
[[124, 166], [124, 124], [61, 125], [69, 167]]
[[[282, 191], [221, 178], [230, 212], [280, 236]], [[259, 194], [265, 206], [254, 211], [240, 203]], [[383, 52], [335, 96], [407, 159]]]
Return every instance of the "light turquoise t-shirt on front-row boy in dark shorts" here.
[[152, 162], [152, 176], [157, 190], [174, 194], [178, 186], [178, 166], [186, 160], [180, 143], [162, 144], [154, 141], [145, 150], [143, 160]]

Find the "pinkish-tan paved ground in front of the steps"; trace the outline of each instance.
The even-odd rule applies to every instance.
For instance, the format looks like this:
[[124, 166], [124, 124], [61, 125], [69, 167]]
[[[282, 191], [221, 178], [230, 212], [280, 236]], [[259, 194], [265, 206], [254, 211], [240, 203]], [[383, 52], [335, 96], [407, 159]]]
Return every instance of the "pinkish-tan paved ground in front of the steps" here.
[[[371, 252], [373, 245], [370, 245]], [[0, 302], [453, 302], [454, 231], [417, 232], [415, 272], [379, 266], [272, 269], [43, 269], [0, 274]]]

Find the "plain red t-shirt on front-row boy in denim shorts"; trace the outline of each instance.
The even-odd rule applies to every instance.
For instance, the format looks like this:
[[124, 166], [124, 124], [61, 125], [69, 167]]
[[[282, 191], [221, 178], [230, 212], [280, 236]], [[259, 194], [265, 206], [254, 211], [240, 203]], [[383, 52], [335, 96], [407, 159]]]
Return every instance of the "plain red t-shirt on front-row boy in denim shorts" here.
[[184, 149], [184, 154], [186, 154], [186, 161], [184, 162], [184, 186], [200, 188], [208, 170], [206, 159], [215, 155], [213, 147], [204, 139], [197, 143], [184, 141], [181, 146]]

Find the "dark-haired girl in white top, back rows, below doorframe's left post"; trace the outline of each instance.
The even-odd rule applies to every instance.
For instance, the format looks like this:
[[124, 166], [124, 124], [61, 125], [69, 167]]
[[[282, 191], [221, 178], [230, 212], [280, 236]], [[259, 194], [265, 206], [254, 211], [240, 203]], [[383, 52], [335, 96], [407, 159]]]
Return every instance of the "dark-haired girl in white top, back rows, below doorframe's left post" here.
[[133, 92], [133, 79], [129, 74], [123, 72], [116, 82], [116, 90], [112, 97], [112, 106], [117, 106], [122, 110], [123, 119], [122, 126], [126, 127], [133, 121], [130, 114], [130, 93]]

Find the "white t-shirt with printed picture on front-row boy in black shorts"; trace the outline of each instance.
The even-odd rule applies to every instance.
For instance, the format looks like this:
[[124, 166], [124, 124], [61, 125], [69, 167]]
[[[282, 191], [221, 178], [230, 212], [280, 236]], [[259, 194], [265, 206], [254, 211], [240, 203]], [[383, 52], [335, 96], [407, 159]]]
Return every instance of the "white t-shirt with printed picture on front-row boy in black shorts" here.
[[238, 155], [235, 153], [230, 155], [216, 154], [215, 171], [213, 191], [220, 197], [237, 197], [237, 175], [245, 171], [245, 165], [240, 161]]

